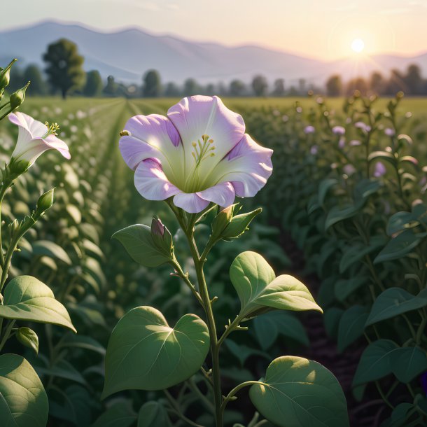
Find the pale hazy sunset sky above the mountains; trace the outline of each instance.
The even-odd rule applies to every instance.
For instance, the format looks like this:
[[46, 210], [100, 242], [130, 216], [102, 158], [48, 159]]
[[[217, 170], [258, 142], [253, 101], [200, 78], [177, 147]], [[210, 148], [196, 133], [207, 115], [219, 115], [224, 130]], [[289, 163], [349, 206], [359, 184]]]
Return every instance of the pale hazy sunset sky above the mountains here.
[[[141, 27], [227, 45], [255, 43], [309, 57], [427, 51], [427, 0], [1, 0], [0, 31], [55, 19], [110, 31]], [[7, 19], [5, 19], [7, 17]], [[0, 46], [1, 50], [1, 46]]]

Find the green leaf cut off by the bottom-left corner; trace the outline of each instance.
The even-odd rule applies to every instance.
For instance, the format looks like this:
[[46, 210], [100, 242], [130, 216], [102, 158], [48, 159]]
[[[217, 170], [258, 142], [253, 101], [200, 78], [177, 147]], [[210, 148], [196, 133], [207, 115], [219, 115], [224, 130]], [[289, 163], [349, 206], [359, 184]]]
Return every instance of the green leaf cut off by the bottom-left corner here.
[[48, 397], [36, 371], [16, 354], [0, 356], [1, 425], [7, 427], [45, 427], [48, 422]]

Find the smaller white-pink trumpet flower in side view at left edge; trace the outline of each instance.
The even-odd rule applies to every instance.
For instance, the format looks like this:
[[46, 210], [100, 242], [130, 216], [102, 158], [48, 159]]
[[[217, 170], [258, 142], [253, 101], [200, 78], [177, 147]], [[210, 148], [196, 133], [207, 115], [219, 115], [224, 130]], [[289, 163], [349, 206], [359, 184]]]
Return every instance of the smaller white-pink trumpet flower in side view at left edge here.
[[10, 113], [8, 116], [10, 122], [18, 126], [18, 142], [13, 150], [10, 163], [27, 162], [30, 167], [45, 151], [55, 149], [61, 153], [64, 158], [70, 159], [68, 146], [64, 141], [57, 138], [55, 131], [58, 126], [50, 127], [34, 120], [25, 113]]

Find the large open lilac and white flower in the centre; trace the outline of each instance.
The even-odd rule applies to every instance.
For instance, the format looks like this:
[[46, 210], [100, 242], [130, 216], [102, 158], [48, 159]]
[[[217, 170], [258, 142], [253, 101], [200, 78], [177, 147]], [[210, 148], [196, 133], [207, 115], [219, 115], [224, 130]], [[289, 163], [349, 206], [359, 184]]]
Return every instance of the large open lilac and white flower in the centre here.
[[174, 197], [190, 213], [253, 197], [272, 174], [273, 151], [245, 134], [243, 118], [218, 97], [181, 99], [167, 116], [134, 116], [123, 134], [120, 152], [139, 193]]

